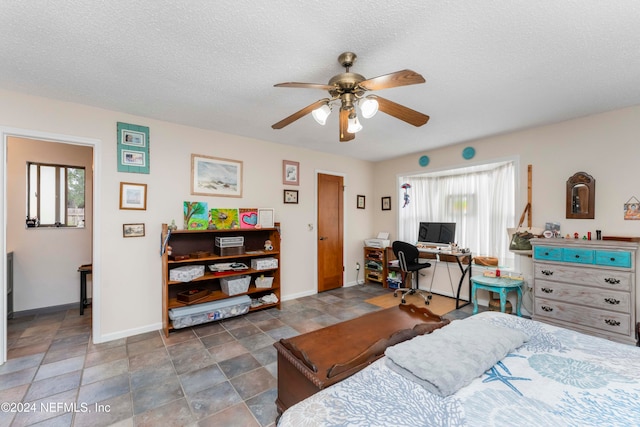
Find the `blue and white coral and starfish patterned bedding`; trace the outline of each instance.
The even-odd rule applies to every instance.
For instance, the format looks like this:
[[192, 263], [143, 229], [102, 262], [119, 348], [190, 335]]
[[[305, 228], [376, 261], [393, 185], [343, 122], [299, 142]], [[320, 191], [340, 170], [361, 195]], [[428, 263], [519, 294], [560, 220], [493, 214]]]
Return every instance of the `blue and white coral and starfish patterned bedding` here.
[[292, 406], [278, 425], [640, 425], [640, 347], [497, 312], [470, 319], [529, 340], [447, 397], [392, 371], [383, 357]]

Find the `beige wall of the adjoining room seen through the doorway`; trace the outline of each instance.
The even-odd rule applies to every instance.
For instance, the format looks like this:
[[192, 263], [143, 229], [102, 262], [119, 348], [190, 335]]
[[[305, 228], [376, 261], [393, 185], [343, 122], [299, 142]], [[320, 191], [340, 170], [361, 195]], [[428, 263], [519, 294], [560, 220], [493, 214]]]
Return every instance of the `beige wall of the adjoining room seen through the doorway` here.
[[[28, 161], [85, 168], [85, 227], [26, 228]], [[7, 250], [14, 252], [14, 311], [79, 301], [79, 273], [91, 263], [93, 154], [90, 147], [9, 138]], [[89, 276], [89, 284], [91, 283]], [[88, 287], [91, 295], [91, 287]]]

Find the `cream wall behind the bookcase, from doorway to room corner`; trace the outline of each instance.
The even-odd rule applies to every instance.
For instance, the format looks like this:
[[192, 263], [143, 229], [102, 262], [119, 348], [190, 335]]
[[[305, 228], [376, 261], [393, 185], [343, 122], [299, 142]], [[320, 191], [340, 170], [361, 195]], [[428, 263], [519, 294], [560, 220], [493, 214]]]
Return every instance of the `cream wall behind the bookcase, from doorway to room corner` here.
[[[150, 174], [117, 172], [118, 121], [149, 126]], [[101, 287], [100, 310], [95, 311], [100, 313], [101, 325], [94, 336], [97, 342], [160, 327], [160, 225], [172, 219], [180, 225], [185, 200], [205, 201], [210, 207], [274, 208], [276, 221], [282, 224], [281, 279], [286, 299], [316, 291], [315, 173], [320, 170], [343, 174], [346, 283], [355, 281], [355, 268], [349, 267], [362, 263], [362, 240], [371, 237], [373, 229], [375, 208], [369, 204], [373, 196], [373, 164], [369, 162], [9, 91], [0, 91], [0, 126], [102, 141], [97, 178], [102, 191], [96, 195], [102, 219], [101, 247], [99, 259], [93, 260], [94, 265], [100, 263], [99, 280], [94, 277]], [[243, 197], [191, 196], [192, 153], [242, 160]], [[285, 159], [300, 162], [297, 205], [284, 205], [282, 201]], [[148, 185], [146, 211], [119, 209], [120, 182]], [[356, 209], [358, 194], [367, 196], [367, 209]], [[122, 224], [134, 222], [146, 224], [146, 236], [124, 239]], [[313, 231], [309, 231], [308, 224], [313, 225]], [[0, 274], [4, 275], [4, 271]]]

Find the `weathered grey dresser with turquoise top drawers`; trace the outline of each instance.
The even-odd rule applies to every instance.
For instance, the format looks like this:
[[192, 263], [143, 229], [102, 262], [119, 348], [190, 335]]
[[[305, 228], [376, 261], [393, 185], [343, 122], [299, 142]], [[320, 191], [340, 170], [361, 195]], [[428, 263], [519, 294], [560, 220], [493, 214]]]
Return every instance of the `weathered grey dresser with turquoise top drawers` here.
[[532, 239], [533, 318], [636, 344], [634, 242]]

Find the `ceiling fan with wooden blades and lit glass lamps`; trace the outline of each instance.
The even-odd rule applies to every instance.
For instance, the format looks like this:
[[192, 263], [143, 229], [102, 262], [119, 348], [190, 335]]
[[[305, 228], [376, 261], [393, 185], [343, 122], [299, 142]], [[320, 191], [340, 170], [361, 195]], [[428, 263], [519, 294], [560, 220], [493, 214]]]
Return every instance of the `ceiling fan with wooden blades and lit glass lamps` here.
[[356, 104], [359, 105], [362, 117], [364, 118], [373, 117], [373, 115], [380, 110], [383, 113], [414, 126], [422, 126], [427, 123], [429, 116], [425, 114], [377, 95], [365, 95], [367, 91], [424, 83], [424, 77], [415, 71], [402, 70], [372, 79], [365, 79], [365, 77], [360, 74], [349, 72], [349, 69], [356, 62], [356, 58], [357, 56], [353, 52], [344, 52], [341, 54], [338, 57], [338, 62], [346, 71], [333, 76], [326, 85], [297, 82], [278, 83], [274, 85], [275, 87], [324, 89], [329, 92], [331, 98], [320, 99], [304, 107], [302, 110], [296, 111], [289, 117], [280, 120], [271, 127], [273, 129], [282, 129], [309, 113], [313, 115], [313, 118], [319, 124], [324, 125], [327, 117], [331, 114], [334, 104], [340, 104], [340, 141], [350, 141], [354, 139], [356, 132], [362, 129], [362, 125], [358, 121]]

